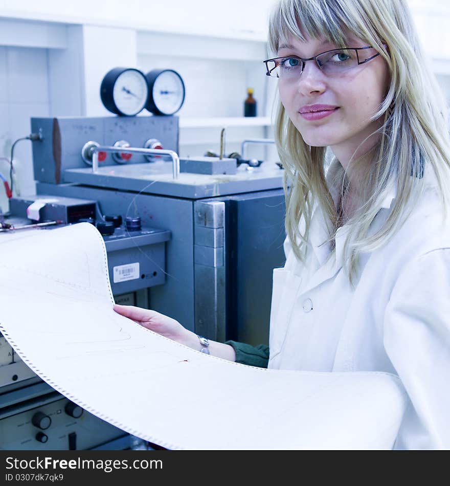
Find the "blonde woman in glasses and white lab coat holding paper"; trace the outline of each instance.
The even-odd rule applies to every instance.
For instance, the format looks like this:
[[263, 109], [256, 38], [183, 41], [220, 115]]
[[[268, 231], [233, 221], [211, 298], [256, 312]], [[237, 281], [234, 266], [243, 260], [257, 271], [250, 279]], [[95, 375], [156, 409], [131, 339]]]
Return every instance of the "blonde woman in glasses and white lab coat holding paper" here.
[[269, 43], [287, 233], [269, 348], [115, 310], [232, 361], [398, 374], [410, 406], [395, 448], [448, 448], [450, 142], [406, 3], [281, 0]]

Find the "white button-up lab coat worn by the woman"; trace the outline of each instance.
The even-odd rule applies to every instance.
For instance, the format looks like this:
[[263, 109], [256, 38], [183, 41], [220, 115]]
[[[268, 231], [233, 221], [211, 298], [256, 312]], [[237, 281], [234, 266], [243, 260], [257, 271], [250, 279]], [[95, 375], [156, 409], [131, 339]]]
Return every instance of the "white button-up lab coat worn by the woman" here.
[[[386, 221], [395, 196], [392, 189], [372, 234]], [[342, 268], [347, 229], [338, 230], [336, 257], [328, 262], [318, 209], [305, 264], [285, 241], [286, 264], [274, 270], [268, 367], [397, 374], [410, 403], [394, 448], [448, 449], [450, 222], [442, 223], [439, 196], [431, 183], [398, 233], [362, 257], [354, 289]]]

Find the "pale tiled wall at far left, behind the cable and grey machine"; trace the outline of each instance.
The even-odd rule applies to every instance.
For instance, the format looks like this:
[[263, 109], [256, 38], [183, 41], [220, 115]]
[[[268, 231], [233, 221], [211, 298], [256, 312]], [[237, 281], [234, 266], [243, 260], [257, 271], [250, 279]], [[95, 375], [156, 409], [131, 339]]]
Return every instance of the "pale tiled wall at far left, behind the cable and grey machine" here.
[[[49, 116], [46, 49], [0, 46], [0, 157], [10, 158], [11, 144], [30, 134], [30, 118]], [[21, 194], [34, 193], [31, 142], [16, 145], [14, 166]], [[0, 160], [0, 172], [9, 180], [9, 164]], [[0, 206], [8, 209], [2, 184]]]

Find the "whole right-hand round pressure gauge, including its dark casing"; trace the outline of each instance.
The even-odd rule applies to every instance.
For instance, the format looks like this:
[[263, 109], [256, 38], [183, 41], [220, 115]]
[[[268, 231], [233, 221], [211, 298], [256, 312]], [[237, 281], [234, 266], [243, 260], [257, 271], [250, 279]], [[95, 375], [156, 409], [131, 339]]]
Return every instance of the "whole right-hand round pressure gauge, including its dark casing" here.
[[154, 69], [146, 74], [148, 102], [146, 108], [153, 115], [173, 115], [185, 101], [185, 84], [172, 69]]

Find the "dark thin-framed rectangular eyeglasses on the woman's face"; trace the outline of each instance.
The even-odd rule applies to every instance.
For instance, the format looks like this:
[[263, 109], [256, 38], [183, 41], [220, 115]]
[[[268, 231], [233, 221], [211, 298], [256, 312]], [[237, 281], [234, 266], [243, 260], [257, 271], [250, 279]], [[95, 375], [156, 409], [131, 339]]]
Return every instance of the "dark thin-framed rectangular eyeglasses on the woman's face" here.
[[[379, 56], [379, 52], [370, 57], [364, 57], [366, 53], [370, 55], [370, 51], [359, 53], [359, 51], [365, 51], [366, 49], [375, 50], [371, 46], [351, 47], [322, 52], [307, 59], [297, 56], [286, 56], [267, 59], [263, 62], [267, 69], [266, 76], [275, 78], [298, 78], [303, 73], [306, 61], [312, 60], [316, 61], [318, 68], [327, 76], [335, 76]], [[359, 58], [360, 56], [362, 59]]]

